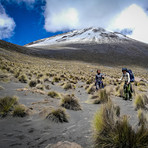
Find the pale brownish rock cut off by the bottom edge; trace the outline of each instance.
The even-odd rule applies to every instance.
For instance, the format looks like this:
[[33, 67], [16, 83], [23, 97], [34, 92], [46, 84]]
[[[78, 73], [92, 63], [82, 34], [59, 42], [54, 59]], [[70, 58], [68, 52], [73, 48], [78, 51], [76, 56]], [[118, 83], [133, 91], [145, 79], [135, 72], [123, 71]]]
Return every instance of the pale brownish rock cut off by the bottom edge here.
[[74, 142], [60, 141], [57, 144], [48, 144], [45, 148], [82, 148], [82, 147]]

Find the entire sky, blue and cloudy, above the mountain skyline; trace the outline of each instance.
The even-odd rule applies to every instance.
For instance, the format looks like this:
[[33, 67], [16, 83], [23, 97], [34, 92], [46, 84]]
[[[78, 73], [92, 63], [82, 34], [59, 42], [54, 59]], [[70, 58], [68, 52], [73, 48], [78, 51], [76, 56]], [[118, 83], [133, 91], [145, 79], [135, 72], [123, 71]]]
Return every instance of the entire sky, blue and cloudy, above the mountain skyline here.
[[25, 45], [73, 29], [103, 27], [148, 43], [147, 0], [0, 0], [0, 39]]

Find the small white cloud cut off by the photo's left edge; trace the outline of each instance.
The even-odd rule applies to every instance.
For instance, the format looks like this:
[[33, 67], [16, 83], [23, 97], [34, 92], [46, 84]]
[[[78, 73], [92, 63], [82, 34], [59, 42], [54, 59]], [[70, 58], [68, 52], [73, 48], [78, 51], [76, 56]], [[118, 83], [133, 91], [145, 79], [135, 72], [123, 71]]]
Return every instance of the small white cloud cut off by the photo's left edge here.
[[0, 39], [9, 38], [13, 35], [15, 22], [9, 17], [4, 7], [0, 4]]

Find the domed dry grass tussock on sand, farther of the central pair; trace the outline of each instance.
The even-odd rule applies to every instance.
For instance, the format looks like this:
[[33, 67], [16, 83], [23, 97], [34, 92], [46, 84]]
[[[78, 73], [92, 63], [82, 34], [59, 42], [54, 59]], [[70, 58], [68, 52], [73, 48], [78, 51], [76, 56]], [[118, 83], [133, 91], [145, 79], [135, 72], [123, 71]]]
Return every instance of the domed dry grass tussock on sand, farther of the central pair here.
[[64, 95], [62, 96], [60, 105], [66, 109], [70, 110], [81, 110], [78, 99], [74, 95]]

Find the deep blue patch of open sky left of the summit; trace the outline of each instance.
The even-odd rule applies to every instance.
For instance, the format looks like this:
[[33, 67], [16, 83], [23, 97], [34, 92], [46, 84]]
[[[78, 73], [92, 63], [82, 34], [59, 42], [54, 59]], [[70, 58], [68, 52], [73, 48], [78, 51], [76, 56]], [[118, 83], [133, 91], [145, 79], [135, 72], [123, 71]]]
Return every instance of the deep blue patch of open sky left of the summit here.
[[15, 21], [15, 29], [13, 30], [10, 38], [3, 40], [18, 44], [25, 45], [32, 41], [53, 36], [62, 32], [47, 32], [44, 29], [44, 16], [42, 6], [45, 2], [37, 2], [32, 8], [25, 3], [16, 4], [9, 2], [2, 2], [6, 13]]

